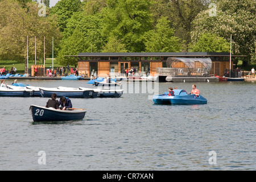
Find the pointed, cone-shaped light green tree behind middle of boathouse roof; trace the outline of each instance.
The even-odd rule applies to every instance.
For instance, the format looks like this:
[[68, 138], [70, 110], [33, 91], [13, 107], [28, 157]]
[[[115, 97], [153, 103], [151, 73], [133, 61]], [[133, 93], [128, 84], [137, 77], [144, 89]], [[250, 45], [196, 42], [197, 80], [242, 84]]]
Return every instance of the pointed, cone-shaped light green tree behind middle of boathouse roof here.
[[180, 51], [179, 38], [174, 36], [174, 28], [170, 27], [167, 17], [158, 19], [155, 30], [147, 33], [147, 52], [178, 52]]

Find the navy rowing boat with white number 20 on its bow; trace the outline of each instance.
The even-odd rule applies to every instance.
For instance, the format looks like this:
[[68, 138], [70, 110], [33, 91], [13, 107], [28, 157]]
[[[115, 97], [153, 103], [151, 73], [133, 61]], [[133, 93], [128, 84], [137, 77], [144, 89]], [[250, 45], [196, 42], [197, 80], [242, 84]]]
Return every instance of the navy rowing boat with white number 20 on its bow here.
[[52, 107], [30, 106], [34, 122], [42, 121], [72, 121], [85, 117], [85, 109], [59, 110]]

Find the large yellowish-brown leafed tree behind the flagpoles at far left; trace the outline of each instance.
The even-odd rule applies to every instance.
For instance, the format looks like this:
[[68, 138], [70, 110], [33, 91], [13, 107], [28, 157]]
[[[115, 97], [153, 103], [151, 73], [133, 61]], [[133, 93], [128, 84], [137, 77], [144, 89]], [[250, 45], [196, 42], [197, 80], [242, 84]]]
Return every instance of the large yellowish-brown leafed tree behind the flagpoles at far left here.
[[[27, 36], [29, 56], [43, 57], [43, 41], [46, 37], [46, 52], [52, 51], [51, 39], [55, 43], [60, 39], [55, 16], [39, 16], [39, 7], [35, 2], [26, 4], [23, 9], [14, 0], [0, 2], [0, 59], [13, 59], [20, 62], [27, 58]], [[42, 28], [43, 27], [43, 28]], [[50, 39], [50, 40], [49, 40]], [[24, 61], [27, 63], [27, 61]], [[25, 69], [26, 70], [26, 69]]]

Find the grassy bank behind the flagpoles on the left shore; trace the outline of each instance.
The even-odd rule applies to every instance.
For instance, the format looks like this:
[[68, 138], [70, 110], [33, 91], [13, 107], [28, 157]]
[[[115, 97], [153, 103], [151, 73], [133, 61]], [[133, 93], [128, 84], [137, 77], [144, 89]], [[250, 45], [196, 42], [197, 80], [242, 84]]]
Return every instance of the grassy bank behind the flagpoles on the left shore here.
[[[36, 64], [43, 65], [43, 60], [37, 61]], [[31, 65], [35, 65], [35, 60], [28, 61], [28, 68], [31, 68]], [[46, 59], [45, 67], [49, 68], [52, 66], [52, 59]], [[59, 65], [59, 63], [53, 59], [53, 68], [65, 67], [66, 65]], [[25, 63], [19, 63], [15, 60], [0, 60], [0, 68], [5, 67], [6, 71], [11, 70], [11, 67], [17, 69], [16, 73], [24, 74]], [[69, 65], [69, 67], [75, 67], [75, 65]]]

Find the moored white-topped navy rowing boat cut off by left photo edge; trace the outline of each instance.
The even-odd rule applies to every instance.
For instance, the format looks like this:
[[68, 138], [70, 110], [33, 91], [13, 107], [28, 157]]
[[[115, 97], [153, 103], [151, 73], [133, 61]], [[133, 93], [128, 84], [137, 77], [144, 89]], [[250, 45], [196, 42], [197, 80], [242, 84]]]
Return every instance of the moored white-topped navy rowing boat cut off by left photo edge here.
[[0, 88], [0, 97], [30, 97], [30, 92], [24, 89]]

